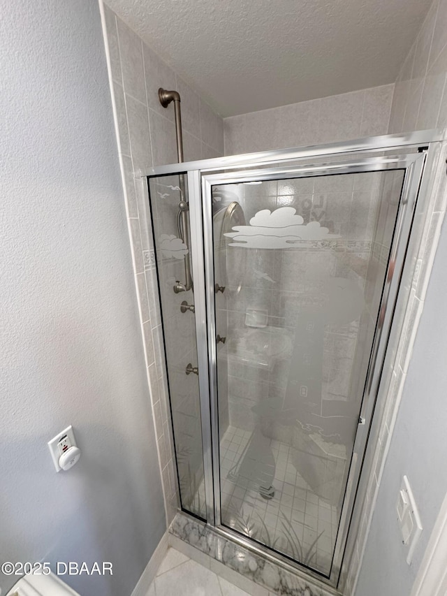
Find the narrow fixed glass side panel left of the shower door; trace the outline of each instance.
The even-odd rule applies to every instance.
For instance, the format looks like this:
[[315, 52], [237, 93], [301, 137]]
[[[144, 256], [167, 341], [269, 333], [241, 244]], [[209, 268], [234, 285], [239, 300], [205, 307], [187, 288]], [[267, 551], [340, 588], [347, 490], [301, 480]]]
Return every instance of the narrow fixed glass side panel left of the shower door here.
[[205, 519], [198, 376], [186, 374], [188, 365], [197, 367], [196, 324], [193, 311], [182, 310], [182, 303], [193, 305], [194, 298], [192, 289], [173, 290], [177, 282], [185, 282], [184, 261], [191, 258], [179, 229], [182, 184], [187, 199], [186, 180], [181, 181], [179, 175], [152, 178], [149, 195], [180, 500], [182, 509]]

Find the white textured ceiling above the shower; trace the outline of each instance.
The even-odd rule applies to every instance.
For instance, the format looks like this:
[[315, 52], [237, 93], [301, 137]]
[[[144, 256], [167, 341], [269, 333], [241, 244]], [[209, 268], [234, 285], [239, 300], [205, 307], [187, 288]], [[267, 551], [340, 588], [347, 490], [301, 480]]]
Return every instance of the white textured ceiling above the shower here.
[[394, 82], [432, 0], [107, 0], [226, 117]]

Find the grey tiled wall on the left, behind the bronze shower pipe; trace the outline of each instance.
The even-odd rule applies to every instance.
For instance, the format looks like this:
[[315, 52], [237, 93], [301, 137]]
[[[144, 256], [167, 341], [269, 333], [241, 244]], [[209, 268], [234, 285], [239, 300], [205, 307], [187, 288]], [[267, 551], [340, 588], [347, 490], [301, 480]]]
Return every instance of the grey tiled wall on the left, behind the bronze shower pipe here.
[[185, 161], [223, 154], [223, 120], [108, 6], [101, 5], [147, 378], [169, 524], [178, 499], [154, 247], [147, 189], [141, 179], [134, 179], [133, 173], [177, 161], [173, 105], [161, 106], [159, 87], [176, 89], [181, 96]]

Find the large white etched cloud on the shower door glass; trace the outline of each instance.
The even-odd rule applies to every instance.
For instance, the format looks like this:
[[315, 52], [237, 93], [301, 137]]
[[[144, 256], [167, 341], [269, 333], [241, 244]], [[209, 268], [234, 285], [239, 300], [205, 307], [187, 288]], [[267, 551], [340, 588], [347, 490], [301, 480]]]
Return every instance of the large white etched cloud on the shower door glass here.
[[233, 232], [225, 234], [232, 238], [229, 246], [245, 248], [293, 248], [306, 240], [334, 240], [318, 221], [304, 223], [293, 207], [279, 207], [274, 211], [263, 209], [250, 219], [249, 226], [234, 226]]

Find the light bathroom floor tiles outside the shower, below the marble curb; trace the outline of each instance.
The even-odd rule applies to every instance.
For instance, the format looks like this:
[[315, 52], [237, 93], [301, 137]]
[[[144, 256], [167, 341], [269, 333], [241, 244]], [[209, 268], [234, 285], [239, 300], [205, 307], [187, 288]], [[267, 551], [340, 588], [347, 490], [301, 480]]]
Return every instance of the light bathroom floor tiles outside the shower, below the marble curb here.
[[[260, 588], [261, 590], [263, 588]], [[256, 590], [257, 592], [258, 590]], [[169, 548], [147, 596], [250, 596], [210, 569]], [[274, 596], [274, 595], [272, 595]]]

